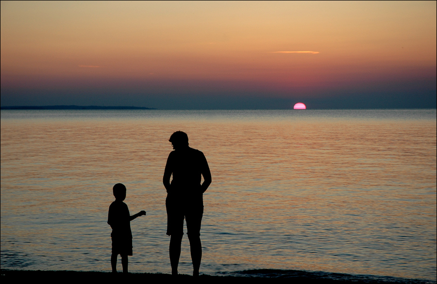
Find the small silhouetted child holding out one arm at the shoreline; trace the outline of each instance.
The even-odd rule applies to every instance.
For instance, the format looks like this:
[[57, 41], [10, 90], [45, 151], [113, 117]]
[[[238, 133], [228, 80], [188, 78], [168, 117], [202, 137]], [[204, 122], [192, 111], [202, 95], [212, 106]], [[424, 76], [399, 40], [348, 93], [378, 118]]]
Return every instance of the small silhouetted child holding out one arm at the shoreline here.
[[128, 255], [132, 255], [132, 232], [131, 221], [136, 217], [146, 215], [146, 211], [140, 211], [135, 215], [129, 214], [128, 206], [123, 202], [126, 198], [126, 187], [118, 183], [112, 191], [116, 200], [109, 206], [108, 224], [112, 228], [112, 272], [117, 273], [117, 256], [121, 255], [123, 273], [128, 273]]

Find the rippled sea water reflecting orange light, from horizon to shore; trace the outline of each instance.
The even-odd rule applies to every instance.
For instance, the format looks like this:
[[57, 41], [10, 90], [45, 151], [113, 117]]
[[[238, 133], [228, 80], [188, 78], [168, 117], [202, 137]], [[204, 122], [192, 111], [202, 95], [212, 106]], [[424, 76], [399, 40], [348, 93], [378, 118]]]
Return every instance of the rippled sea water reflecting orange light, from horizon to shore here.
[[110, 271], [121, 182], [130, 271], [170, 273], [177, 130], [212, 173], [201, 273], [436, 282], [436, 110], [1, 110], [1, 268]]

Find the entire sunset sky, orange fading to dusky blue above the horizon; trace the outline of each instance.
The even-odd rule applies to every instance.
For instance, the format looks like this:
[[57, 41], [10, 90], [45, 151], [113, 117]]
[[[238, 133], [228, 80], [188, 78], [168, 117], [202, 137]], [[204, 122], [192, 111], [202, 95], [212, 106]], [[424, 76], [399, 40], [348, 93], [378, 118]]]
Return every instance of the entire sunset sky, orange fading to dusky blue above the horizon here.
[[436, 1], [1, 1], [1, 106], [437, 107]]

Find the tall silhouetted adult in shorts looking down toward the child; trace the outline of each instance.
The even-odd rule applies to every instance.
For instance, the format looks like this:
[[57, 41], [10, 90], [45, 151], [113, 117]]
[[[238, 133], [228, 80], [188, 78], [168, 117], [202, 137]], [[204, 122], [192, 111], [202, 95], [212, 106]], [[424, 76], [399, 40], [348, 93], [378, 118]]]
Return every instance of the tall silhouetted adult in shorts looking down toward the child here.
[[[171, 236], [169, 248], [171, 274], [178, 274], [185, 218], [193, 261], [193, 276], [198, 276], [202, 260], [200, 240], [202, 194], [211, 184], [211, 172], [203, 153], [188, 146], [188, 136], [185, 132], [174, 132], [168, 141], [173, 145], [174, 151], [168, 155], [163, 183], [167, 190], [167, 235]], [[173, 179], [170, 183], [171, 174]]]

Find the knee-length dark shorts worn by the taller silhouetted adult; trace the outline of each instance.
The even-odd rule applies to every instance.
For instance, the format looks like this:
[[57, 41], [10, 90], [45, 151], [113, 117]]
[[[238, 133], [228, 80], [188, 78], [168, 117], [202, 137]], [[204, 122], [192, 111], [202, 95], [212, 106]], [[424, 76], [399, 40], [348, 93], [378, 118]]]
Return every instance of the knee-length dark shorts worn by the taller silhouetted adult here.
[[203, 216], [203, 204], [189, 204], [181, 200], [172, 200], [167, 197], [167, 235], [184, 235], [184, 219], [188, 236], [200, 236]]

